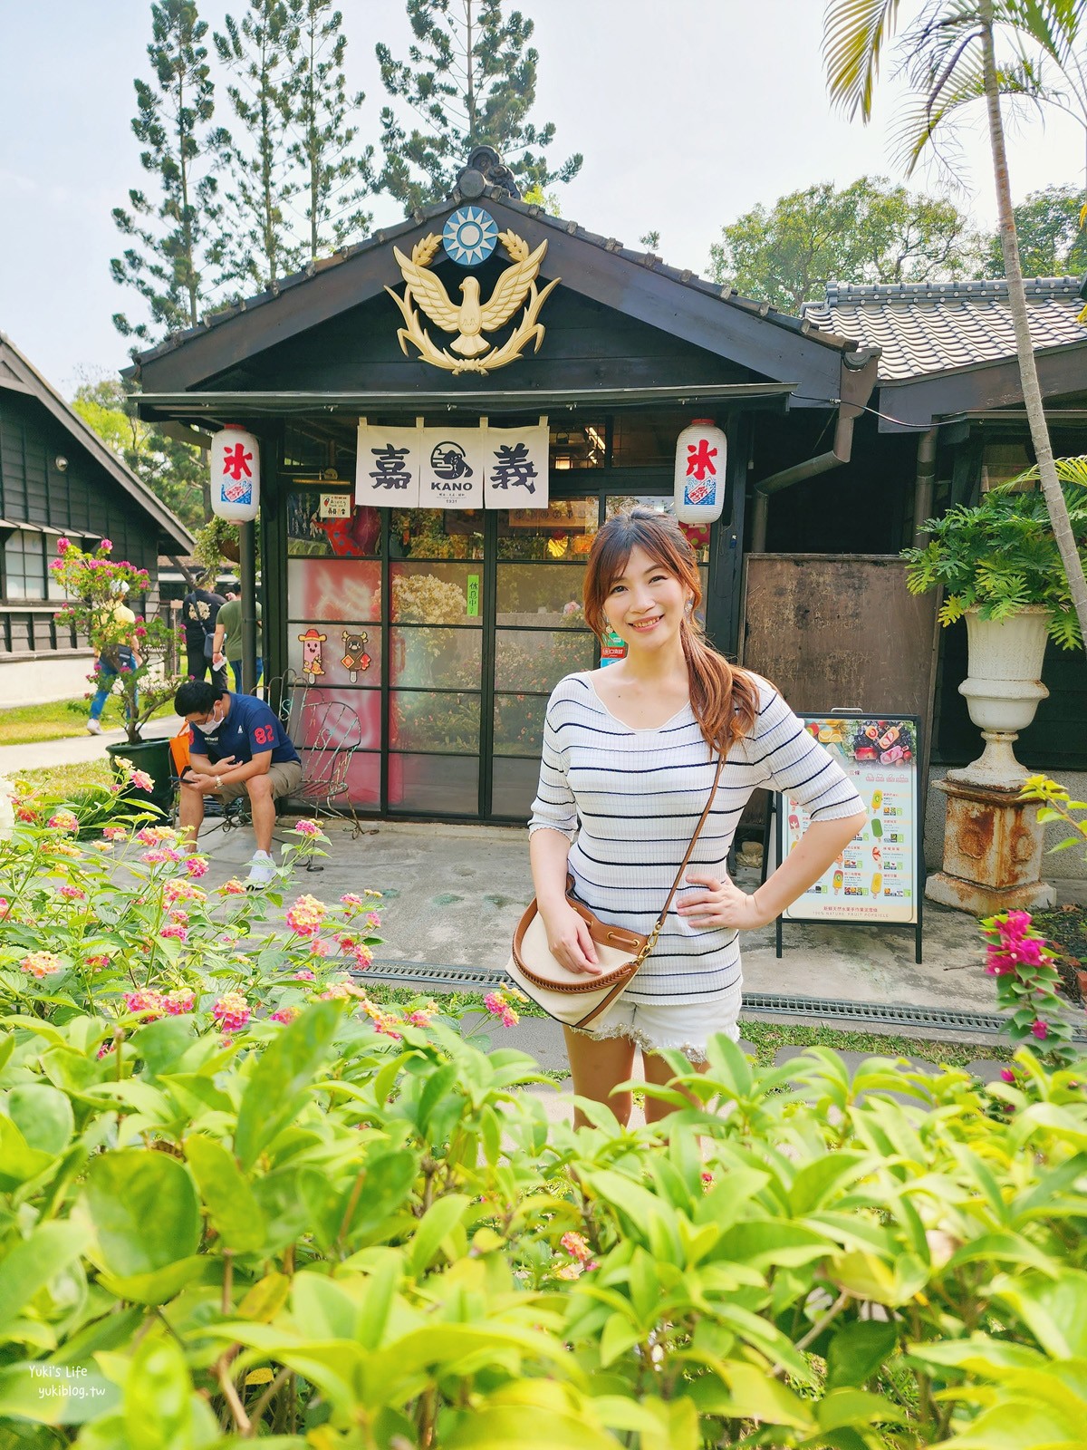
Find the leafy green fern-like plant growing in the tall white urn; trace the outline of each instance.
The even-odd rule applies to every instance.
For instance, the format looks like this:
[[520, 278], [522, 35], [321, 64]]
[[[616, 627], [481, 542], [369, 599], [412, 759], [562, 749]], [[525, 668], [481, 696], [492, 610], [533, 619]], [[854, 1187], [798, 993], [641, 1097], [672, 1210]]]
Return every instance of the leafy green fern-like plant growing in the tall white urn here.
[[[1068, 515], [1080, 557], [1087, 566], [1087, 455], [1058, 458]], [[959, 505], [923, 525], [925, 548], [901, 551], [912, 594], [944, 589], [942, 625], [968, 609], [983, 619], [1007, 619], [1030, 606], [1048, 610], [1049, 638], [1062, 650], [1083, 645], [1068, 579], [1041, 492], [1016, 486], [1038, 478], [1038, 468], [983, 494], [973, 508]]]

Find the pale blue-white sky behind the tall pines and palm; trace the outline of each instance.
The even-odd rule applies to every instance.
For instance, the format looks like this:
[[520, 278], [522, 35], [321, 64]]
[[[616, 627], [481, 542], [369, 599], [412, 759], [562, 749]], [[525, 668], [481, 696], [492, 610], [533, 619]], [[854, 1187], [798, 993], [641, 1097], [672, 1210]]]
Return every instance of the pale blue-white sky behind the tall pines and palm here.
[[[341, 0], [348, 71], [377, 135], [384, 93], [374, 42], [409, 42], [403, 0]], [[822, 0], [522, 0], [541, 52], [535, 117], [555, 120], [557, 157], [583, 151], [559, 187], [562, 215], [636, 246], [661, 232], [665, 261], [709, 270], [722, 223], [757, 202], [820, 180], [890, 173], [886, 90], [877, 125], [830, 115], [820, 67]], [[204, 0], [222, 25], [241, 0]], [[146, 72], [146, 0], [0, 0], [0, 331], [65, 394], [81, 367], [125, 364], [116, 310], [120, 249], [110, 210], [141, 186], [132, 78]], [[217, 119], [229, 125], [226, 102]], [[970, 190], [959, 204], [993, 219], [981, 117], [964, 135]], [[1083, 130], [1051, 116], [1010, 144], [1016, 199], [1083, 177]], [[377, 223], [399, 218], [378, 200]]]

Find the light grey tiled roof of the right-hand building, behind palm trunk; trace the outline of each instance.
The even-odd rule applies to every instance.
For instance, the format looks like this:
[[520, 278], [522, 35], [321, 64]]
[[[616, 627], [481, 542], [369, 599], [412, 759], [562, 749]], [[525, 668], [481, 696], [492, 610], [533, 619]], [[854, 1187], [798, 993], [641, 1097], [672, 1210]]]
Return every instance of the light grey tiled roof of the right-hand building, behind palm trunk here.
[[[1083, 309], [1080, 283], [1078, 277], [1026, 281], [1036, 352], [1087, 342], [1087, 328], [1075, 320]], [[1004, 278], [894, 286], [832, 281], [826, 300], [806, 302], [800, 316], [878, 347], [881, 383], [999, 362], [1016, 351]]]

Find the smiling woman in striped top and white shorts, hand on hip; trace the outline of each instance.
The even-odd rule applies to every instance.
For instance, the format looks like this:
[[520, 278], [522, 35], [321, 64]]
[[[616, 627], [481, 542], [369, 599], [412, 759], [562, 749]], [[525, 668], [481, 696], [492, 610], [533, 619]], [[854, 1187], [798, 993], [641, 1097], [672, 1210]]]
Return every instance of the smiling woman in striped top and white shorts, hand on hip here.
[[[700, 602], [694, 554], [674, 519], [632, 509], [604, 523], [588, 557], [584, 612], [599, 638], [620, 635], [626, 657], [570, 674], [552, 692], [529, 822], [551, 951], [571, 970], [599, 973], [588, 929], [565, 899], [567, 873], [601, 921], [648, 934], [726, 754], [657, 947], [588, 1030], [564, 1030], [574, 1092], [606, 1102], [623, 1124], [630, 1093], [615, 1088], [632, 1076], [635, 1048], [646, 1080], [667, 1083], [662, 1048], [704, 1064], [709, 1037], [738, 1038], [739, 931], [774, 921], [865, 821], [861, 798], [774, 686], [733, 668], [701, 638]], [[812, 824], [748, 895], [729, 880], [725, 860], [758, 786], [787, 790]], [[652, 1122], [671, 1108], [648, 1099], [645, 1111]]]

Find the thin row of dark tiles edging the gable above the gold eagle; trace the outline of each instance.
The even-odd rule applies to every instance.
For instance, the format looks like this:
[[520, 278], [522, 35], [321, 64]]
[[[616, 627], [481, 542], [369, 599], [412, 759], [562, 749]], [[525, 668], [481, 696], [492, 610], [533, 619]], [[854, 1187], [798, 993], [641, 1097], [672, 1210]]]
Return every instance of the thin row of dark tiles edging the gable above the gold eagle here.
[[[544, 226], [554, 228], [555, 231], [567, 232], [571, 236], [577, 236], [583, 242], [588, 242], [593, 246], [599, 246], [604, 252], [613, 252], [626, 261], [636, 262], [639, 267], [645, 267], [649, 271], [659, 273], [664, 277], [670, 277], [672, 281], [680, 283], [684, 287], [691, 287], [696, 291], [704, 293], [709, 297], [717, 297], [722, 302], [729, 303], [742, 312], [754, 312], [759, 318], [765, 318], [768, 322], [784, 328], [788, 332], [794, 332], [803, 336], [810, 336], [816, 342], [825, 342], [830, 348], [838, 348], [839, 351], [855, 351], [857, 344], [851, 339], [857, 334], [845, 334], [842, 336], [835, 335], [835, 328], [829, 322], [794, 318], [791, 313], [778, 312], [777, 307], [771, 307], [768, 302], [758, 302], [752, 297], [741, 297], [735, 287], [728, 283], [709, 281], [704, 277], [699, 277], [690, 268], [668, 267], [659, 257], [654, 252], [633, 251], [632, 248], [623, 246], [622, 242], [616, 241], [615, 236], [601, 236], [597, 232], [588, 232], [584, 226], [577, 222], [565, 220], [561, 216], [552, 216], [542, 206], [535, 203], [520, 202], [512, 197], [501, 187], [487, 187], [484, 197], [493, 202], [501, 203], [501, 206], [509, 207], [513, 212], [520, 212], [523, 216], [530, 216], [541, 222]], [[332, 257], [322, 257], [316, 262], [309, 262], [301, 271], [294, 273], [290, 277], [281, 277], [268, 291], [262, 291], [255, 297], [245, 297], [242, 302], [235, 303], [229, 307], [222, 307], [216, 312], [209, 312], [200, 326], [190, 328], [186, 332], [171, 334], [165, 342], [158, 344], [154, 348], [148, 348], [146, 352], [141, 352], [136, 358], [136, 364], [151, 362], [154, 358], [162, 357], [164, 354], [180, 347], [188, 338], [204, 332], [209, 328], [216, 328], [220, 323], [238, 316], [239, 312], [252, 312], [255, 307], [265, 306], [274, 302], [280, 293], [287, 291], [291, 287], [304, 286], [312, 277], [328, 271], [329, 267], [339, 267], [359, 252], [371, 251], [372, 248], [383, 246], [386, 242], [400, 241], [409, 236], [422, 222], [430, 220], [432, 218], [443, 216], [452, 207], [458, 206], [465, 200], [459, 191], [454, 190], [449, 197], [443, 202], [435, 202], [430, 206], [420, 207], [415, 212], [406, 222], [399, 222], [396, 226], [386, 226], [374, 232], [365, 241], [355, 244], [354, 246], [343, 246]], [[477, 197], [472, 202], [480, 200]], [[132, 373], [132, 368], [125, 370], [126, 376]]]

